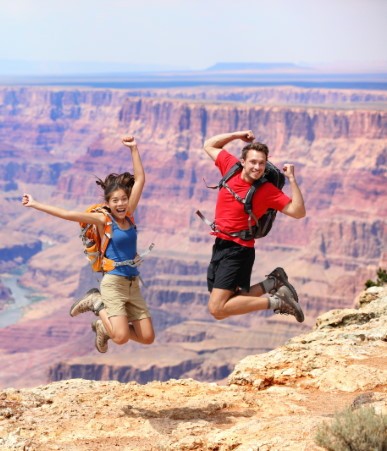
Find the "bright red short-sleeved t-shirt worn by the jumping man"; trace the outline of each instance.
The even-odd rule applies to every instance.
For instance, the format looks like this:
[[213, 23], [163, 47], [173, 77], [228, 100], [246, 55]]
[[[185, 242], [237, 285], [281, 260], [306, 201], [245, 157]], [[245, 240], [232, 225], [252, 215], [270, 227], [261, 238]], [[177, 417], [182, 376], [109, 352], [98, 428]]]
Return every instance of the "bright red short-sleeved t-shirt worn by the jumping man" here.
[[[239, 161], [234, 155], [222, 149], [215, 160], [215, 165], [220, 169], [222, 176]], [[242, 199], [246, 197], [251, 184], [241, 178], [241, 172], [236, 173], [227, 181], [229, 187]], [[253, 213], [260, 218], [268, 208], [281, 211], [291, 201], [291, 198], [275, 187], [272, 183], [261, 185], [253, 196]], [[244, 206], [225, 188], [219, 190], [215, 210], [215, 224], [219, 230], [224, 232], [238, 232], [249, 228], [248, 215]], [[238, 237], [232, 237], [221, 232], [214, 235], [224, 240], [234, 241], [246, 247], [254, 247], [255, 240], [244, 241]]]

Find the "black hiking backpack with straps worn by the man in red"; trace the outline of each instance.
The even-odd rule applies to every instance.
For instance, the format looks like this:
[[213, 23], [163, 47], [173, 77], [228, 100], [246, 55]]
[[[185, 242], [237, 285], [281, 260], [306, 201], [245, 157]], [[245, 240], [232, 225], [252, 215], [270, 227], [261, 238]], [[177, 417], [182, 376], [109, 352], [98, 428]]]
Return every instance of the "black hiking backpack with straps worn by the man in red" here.
[[[266, 162], [266, 170], [264, 175], [256, 180], [252, 185], [251, 188], [249, 189], [249, 191], [246, 194], [246, 197], [244, 199], [242, 199], [240, 196], [238, 196], [238, 194], [236, 194], [227, 184], [227, 181], [237, 172], [242, 171], [242, 164], [241, 162], [237, 162], [234, 164], [234, 166], [232, 166], [230, 168], [230, 170], [220, 179], [219, 183], [215, 186], [208, 186], [208, 188], [212, 188], [212, 189], [221, 189], [221, 188], [225, 188], [227, 189], [233, 196], [234, 198], [238, 201], [241, 202], [244, 206], [244, 210], [246, 212], [246, 214], [248, 214], [249, 219], [249, 228], [247, 230], [240, 230], [238, 232], [224, 232], [222, 230], [219, 230], [216, 227], [215, 222], [210, 222], [208, 221], [203, 215], [202, 213], [198, 210], [196, 212], [196, 214], [206, 223], [208, 224], [212, 230], [214, 231], [218, 231], [218, 232], [222, 232], [225, 233], [226, 235], [230, 235], [230, 236], [237, 236], [239, 238], [241, 238], [244, 241], [250, 241], [254, 238], [263, 238], [264, 236], [266, 236], [273, 225], [273, 222], [276, 218], [277, 215], [277, 210], [274, 210], [272, 208], [269, 208], [266, 213], [264, 215], [262, 215], [259, 219], [255, 217], [253, 211], [252, 211], [252, 201], [253, 201], [253, 196], [254, 193], [256, 192], [257, 188], [259, 188], [261, 185], [263, 185], [264, 183], [272, 183], [274, 186], [276, 186], [278, 189], [281, 189], [284, 187], [285, 185], [285, 176], [283, 174], [283, 172], [281, 172], [280, 169], [278, 169], [276, 166], [274, 166], [273, 163], [271, 163], [270, 161]], [[252, 220], [254, 220], [255, 224], [252, 224]]]

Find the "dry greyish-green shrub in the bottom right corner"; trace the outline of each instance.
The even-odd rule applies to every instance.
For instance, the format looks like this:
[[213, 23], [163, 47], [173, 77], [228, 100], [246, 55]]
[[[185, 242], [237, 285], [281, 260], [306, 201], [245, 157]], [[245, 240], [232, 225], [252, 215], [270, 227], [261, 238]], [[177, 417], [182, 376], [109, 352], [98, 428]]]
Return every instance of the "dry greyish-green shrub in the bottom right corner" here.
[[387, 416], [373, 407], [347, 408], [320, 425], [315, 442], [328, 451], [387, 451]]

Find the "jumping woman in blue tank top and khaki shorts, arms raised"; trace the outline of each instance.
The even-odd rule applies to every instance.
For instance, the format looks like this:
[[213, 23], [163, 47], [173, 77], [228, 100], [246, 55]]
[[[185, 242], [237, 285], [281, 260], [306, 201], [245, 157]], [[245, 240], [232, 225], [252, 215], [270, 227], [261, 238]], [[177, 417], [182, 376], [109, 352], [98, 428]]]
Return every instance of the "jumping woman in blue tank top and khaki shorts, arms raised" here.
[[[105, 256], [116, 263], [133, 262], [138, 256], [137, 231], [130, 216], [137, 208], [145, 184], [145, 172], [135, 138], [126, 136], [122, 143], [130, 149], [134, 174], [109, 174], [104, 181], [96, 181], [103, 189], [105, 204], [112, 219], [113, 233]], [[22, 203], [25, 207], [35, 208], [61, 219], [95, 224], [101, 239], [104, 235], [107, 220], [105, 213], [69, 211], [42, 204], [30, 194], [23, 195]], [[100, 291], [92, 288], [71, 306], [71, 316], [87, 311], [99, 316], [92, 323], [96, 334], [95, 346], [99, 352], [108, 350], [109, 339], [118, 345], [129, 340], [142, 344], [153, 343], [155, 333], [152, 319], [140, 291], [139, 279], [136, 265], [117, 265], [104, 273]]]

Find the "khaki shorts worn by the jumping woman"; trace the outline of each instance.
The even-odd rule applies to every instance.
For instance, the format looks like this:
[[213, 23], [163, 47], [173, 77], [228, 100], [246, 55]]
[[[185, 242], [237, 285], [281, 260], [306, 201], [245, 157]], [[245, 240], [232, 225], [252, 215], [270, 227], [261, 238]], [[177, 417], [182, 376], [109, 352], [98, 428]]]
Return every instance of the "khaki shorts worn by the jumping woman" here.
[[101, 281], [101, 295], [108, 317], [127, 316], [128, 321], [150, 318], [140, 291], [140, 278], [105, 274]]

